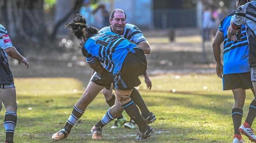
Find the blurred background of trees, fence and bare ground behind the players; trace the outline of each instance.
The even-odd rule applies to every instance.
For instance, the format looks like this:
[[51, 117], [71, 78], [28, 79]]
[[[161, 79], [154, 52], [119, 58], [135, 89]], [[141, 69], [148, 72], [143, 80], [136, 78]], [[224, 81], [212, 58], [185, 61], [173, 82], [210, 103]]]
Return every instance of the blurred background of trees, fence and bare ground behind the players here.
[[[189, 68], [194, 70], [188, 72], [215, 72], [211, 43], [219, 22], [236, 9], [235, 4], [236, 0], [0, 0], [0, 24], [31, 63], [29, 72], [14, 70], [18, 77], [69, 76], [66, 68], [75, 68], [75, 77], [90, 74], [84, 70], [89, 66], [78, 41], [64, 25], [80, 13], [88, 25], [101, 29], [109, 25], [115, 8], [123, 9], [127, 22], [139, 27], [150, 42], [149, 74]], [[10, 62], [16, 68], [17, 61]]]

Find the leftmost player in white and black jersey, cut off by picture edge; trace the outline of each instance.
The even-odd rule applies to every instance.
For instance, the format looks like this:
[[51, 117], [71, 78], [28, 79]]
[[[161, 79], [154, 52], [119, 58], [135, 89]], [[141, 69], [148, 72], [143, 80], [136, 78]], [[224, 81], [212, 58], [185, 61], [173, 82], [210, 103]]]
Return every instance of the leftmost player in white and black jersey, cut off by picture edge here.
[[19, 64], [24, 63], [25, 67], [28, 68], [28, 61], [13, 47], [7, 30], [0, 24], [0, 111], [3, 103], [6, 108], [4, 117], [4, 128], [6, 129], [5, 143], [13, 143], [13, 134], [17, 123], [17, 102], [16, 89], [13, 74], [9, 67], [8, 56], [17, 59]]

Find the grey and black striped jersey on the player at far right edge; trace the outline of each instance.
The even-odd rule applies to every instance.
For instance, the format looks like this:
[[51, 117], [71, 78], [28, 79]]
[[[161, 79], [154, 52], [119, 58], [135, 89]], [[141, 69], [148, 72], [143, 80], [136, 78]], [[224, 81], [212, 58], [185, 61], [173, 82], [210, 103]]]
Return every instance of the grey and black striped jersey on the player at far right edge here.
[[256, 0], [252, 0], [245, 5], [236, 9], [232, 16], [232, 24], [241, 27], [243, 24], [246, 28], [247, 39], [250, 47], [249, 62], [250, 66], [256, 66]]

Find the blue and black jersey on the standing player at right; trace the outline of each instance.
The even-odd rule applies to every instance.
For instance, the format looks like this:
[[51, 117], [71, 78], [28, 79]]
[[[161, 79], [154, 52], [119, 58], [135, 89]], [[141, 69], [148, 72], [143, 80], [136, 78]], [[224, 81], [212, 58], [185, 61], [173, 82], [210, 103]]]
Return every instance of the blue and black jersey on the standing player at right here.
[[223, 74], [250, 72], [249, 45], [245, 26], [242, 25], [237, 33], [237, 41], [232, 41], [227, 36], [230, 20], [234, 14], [232, 13], [224, 18], [219, 25], [219, 31], [223, 32], [224, 35]]

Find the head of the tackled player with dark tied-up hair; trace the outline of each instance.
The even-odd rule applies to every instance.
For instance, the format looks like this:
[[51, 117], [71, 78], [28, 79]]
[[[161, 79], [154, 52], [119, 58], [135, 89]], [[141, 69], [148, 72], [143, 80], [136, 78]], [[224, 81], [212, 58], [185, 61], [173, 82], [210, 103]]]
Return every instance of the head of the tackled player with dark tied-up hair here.
[[91, 35], [97, 34], [98, 29], [95, 27], [87, 26], [86, 20], [79, 13], [76, 14], [76, 18], [74, 18], [71, 22], [65, 24], [65, 27], [74, 33], [74, 35], [80, 39], [81, 36], [84, 38], [88, 38]]

